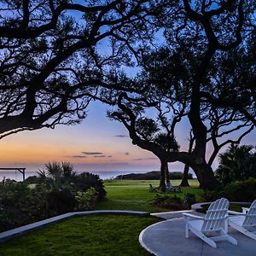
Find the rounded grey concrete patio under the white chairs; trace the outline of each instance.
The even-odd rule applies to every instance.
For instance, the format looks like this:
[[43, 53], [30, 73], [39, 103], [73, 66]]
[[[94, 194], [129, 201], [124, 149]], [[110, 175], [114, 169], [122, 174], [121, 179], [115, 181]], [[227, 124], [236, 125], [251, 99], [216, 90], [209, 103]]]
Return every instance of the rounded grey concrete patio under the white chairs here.
[[[159, 216], [162, 213], [154, 213]], [[168, 215], [169, 214], [169, 215]], [[180, 216], [181, 212], [167, 212], [164, 217]], [[236, 238], [238, 245], [229, 241], [218, 241], [217, 248], [210, 247], [197, 236], [191, 234], [185, 238], [183, 218], [172, 218], [153, 224], [142, 231], [139, 241], [145, 249], [157, 256], [255, 256], [256, 241], [241, 235], [229, 227], [230, 235]]]

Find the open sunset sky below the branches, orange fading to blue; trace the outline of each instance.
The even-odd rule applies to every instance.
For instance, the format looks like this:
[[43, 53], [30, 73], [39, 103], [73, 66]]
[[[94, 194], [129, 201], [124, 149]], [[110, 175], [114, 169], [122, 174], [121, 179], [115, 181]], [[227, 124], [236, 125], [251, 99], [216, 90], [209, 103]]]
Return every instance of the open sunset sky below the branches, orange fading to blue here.
[[[60, 125], [39, 131], [24, 131], [0, 141], [0, 167], [26, 167], [38, 171], [52, 160], [73, 163], [76, 170], [94, 171], [153, 171], [160, 163], [154, 154], [131, 144], [124, 126], [106, 117], [106, 107], [92, 102], [88, 117], [81, 125]], [[181, 149], [188, 137], [188, 125], [177, 129]], [[256, 131], [242, 143], [255, 144]], [[209, 148], [210, 150], [211, 148]], [[217, 161], [212, 166], [215, 169]], [[170, 171], [182, 171], [183, 164], [170, 164]]]

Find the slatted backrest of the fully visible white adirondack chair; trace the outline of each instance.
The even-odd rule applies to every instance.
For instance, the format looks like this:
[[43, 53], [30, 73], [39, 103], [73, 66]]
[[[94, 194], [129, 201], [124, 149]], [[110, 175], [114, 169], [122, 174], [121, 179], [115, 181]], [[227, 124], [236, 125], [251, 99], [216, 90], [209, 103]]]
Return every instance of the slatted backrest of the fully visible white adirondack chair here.
[[225, 198], [213, 201], [207, 210], [201, 231], [218, 231], [225, 229], [225, 219], [227, 218], [230, 202]]

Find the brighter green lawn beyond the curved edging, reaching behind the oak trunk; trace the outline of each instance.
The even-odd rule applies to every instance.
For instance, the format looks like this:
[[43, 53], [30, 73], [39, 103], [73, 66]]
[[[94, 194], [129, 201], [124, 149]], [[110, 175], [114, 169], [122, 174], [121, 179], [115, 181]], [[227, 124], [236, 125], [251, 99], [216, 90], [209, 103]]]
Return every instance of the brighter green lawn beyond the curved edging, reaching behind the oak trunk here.
[[[154, 187], [159, 186], [156, 180], [113, 180], [106, 181], [105, 187], [108, 192], [106, 201], [102, 201], [96, 210], [100, 209], [118, 209], [118, 210], [136, 210], [146, 212], [164, 212], [170, 211], [164, 208], [153, 207], [151, 202], [156, 195], [155, 192], [149, 192], [149, 184]], [[172, 181], [172, 185], [177, 186], [180, 180]], [[198, 188], [197, 180], [189, 180], [190, 188], [183, 188], [182, 193], [169, 193], [168, 195], [184, 196], [186, 193], [195, 194], [199, 197], [202, 190]]]

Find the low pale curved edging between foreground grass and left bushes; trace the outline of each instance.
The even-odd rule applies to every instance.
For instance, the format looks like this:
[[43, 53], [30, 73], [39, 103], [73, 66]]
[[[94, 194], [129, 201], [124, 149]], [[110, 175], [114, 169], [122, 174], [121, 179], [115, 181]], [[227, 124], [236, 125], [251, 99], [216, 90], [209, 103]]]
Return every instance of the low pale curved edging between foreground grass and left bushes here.
[[0, 233], [0, 242], [7, 241], [15, 236], [21, 236], [32, 230], [38, 230], [49, 224], [57, 223], [66, 218], [72, 218], [75, 216], [87, 216], [96, 214], [124, 214], [124, 215], [138, 215], [138, 216], [149, 216], [150, 212], [139, 212], [139, 211], [123, 211], [123, 210], [98, 210], [98, 211], [87, 211], [87, 212], [67, 212], [55, 216], [53, 218], [46, 218], [44, 220], [27, 224], [13, 230], [8, 230]]

